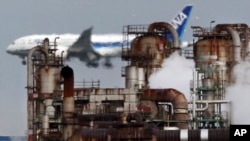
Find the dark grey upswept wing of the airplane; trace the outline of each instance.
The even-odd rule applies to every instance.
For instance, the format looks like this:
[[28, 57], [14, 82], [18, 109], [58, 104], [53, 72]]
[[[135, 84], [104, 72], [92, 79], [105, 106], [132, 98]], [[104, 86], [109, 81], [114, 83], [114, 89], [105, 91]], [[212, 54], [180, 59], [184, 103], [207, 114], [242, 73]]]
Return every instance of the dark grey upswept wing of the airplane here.
[[101, 58], [101, 55], [92, 48], [91, 34], [92, 27], [83, 31], [77, 41], [68, 49], [68, 58], [78, 57], [87, 64], [93, 64]]

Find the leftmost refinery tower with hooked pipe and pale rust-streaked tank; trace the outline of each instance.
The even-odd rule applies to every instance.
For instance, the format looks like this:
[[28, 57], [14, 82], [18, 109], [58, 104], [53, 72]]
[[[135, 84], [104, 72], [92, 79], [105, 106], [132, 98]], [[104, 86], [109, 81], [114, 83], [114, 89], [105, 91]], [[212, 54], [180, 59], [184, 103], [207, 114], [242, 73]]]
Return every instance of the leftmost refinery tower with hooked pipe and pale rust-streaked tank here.
[[[53, 95], [60, 89], [62, 57], [55, 57], [56, 49], [50, 49], [46, 38], [43, 45], [31, 49], [27, 60], [28, 140], [49, 140], [52, 132], [60, 132], [59, 119], [55, 115]], [[57, 129], [50, 127], [57, 124]], [[53, 136], [55, 138], [55, 136]], [[57, 138], [60, 138], [57, 136]]]

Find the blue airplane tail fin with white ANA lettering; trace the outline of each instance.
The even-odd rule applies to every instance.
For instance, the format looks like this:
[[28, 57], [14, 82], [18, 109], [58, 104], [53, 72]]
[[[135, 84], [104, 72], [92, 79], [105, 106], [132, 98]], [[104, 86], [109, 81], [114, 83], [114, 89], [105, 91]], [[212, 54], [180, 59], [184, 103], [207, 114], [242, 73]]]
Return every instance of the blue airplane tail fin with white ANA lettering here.
[[176, 29], [179, 40], [182, 41], [185, 28], [187, 26], [188, 20], [190, 18], [193, 5], [186, 5], [182, 11], [180, 11], [170, 22], [170, 24]]

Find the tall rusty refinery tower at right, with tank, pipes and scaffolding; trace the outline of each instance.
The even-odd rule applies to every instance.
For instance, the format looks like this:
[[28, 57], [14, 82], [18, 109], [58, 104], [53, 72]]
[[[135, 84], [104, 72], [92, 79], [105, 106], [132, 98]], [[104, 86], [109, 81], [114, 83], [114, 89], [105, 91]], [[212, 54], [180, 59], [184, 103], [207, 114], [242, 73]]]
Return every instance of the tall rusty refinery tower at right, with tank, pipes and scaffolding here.
[[[197, 121], [193, 127], [224, 127], [230, 122], [228, 113], [221, 108], [229, 103], [225, 100], [225, 89], [235, 81], [232, 76], [235, 64], [249, 59], [250, 29], [243, 23], [192, 29], [197, 38], [193, 45], [195, 70], [191, 87], [192, 103], [197, 105], [192, 108], [192, 119]], [[204, 107], [206, 110], [198, 110]]]

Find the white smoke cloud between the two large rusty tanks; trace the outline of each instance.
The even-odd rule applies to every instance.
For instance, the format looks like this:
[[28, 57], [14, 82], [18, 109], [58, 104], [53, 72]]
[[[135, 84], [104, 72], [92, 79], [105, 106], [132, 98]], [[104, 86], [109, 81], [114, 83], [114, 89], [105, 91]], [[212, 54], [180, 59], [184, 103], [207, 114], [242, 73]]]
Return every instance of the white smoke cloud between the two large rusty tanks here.
[[149, 77], [150, 88], [174, 88], [190, 100], [190, 81], [193, 77], [194, 61], [173, 53], [162, 64], [162, 69]]

